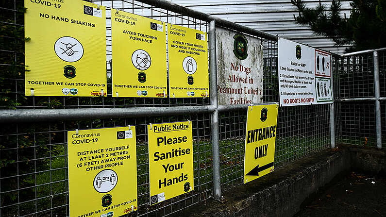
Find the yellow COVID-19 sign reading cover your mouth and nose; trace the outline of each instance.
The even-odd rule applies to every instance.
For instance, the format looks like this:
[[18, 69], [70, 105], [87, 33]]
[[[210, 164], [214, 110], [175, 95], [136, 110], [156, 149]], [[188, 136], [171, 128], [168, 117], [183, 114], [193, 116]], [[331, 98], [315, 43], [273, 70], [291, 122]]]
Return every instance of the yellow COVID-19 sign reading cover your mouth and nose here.
[[208, 97], [208, 45], [205, 32], [168, 24], [170, 97]]

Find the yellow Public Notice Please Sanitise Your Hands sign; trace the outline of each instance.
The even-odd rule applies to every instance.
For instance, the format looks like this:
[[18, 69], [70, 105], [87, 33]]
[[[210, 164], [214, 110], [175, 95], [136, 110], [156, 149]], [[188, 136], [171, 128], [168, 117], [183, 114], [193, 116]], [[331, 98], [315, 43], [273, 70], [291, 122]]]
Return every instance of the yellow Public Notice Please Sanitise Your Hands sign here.
[[150, 205], [193, 191], [191, 122], [148, 125]]

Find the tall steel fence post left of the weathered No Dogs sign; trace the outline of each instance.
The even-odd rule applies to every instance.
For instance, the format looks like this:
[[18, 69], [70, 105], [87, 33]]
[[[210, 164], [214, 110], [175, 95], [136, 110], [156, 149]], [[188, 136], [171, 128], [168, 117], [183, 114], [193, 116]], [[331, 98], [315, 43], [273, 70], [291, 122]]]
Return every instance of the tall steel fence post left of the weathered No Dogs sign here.
[[213, 155], [213, 197], [221, 199], [220, 152], [218, 143], [218, 101], [217, 101], [217, 57], [216, 57], [216, 21], [209, 22], [209, 73], [210, 103], [215, 107], [211, 118], [212, 155]]

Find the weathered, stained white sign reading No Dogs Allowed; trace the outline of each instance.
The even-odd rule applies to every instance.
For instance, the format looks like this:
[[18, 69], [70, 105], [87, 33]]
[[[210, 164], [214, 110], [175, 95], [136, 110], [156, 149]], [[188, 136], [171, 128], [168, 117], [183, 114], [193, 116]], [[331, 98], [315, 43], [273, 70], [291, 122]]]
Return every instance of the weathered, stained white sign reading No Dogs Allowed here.
[[263, 97], [261, 40], [216, 28], [219, 105], [260, 103]]

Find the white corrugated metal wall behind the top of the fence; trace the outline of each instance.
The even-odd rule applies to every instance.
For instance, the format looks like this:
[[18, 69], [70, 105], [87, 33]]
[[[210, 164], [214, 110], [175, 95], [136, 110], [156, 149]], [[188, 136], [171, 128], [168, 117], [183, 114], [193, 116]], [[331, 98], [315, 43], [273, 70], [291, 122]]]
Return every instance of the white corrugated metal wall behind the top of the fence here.
[[[208, 13], [223, 19], [239, 23], [263, 32], [267, 32], [303, 44], [342, 53], [347, 48], [336, 47], [328, 38], [314, 34], [308, 27], [294, 21], [293, 15], [298, 15], [296, 7], [290, 0], [171, 0], [191, 9]], [[304, 0], [307, 6], [315, 7], [319, 0]], [[332, 0], [321, 0], [330, 8]], [[342, 15], [350, 16], [350, 1], [342, 0]]]

